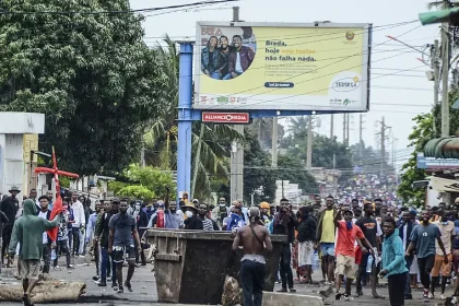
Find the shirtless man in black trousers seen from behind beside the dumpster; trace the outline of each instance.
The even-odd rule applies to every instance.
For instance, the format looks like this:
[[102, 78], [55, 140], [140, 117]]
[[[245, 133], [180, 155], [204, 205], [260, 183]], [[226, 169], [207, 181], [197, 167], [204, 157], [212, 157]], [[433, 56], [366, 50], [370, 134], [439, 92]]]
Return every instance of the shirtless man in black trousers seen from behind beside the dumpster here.
[[239, 246], [244, 249], [244, 257], [240, 260], [244, 305], [261, 306], [266, 273], [263, 250], [272, 251], [272, 244], [268, 228], [259, 224], [260, 210], [258, 208], [250, 208], [249, 219], [249, 224], [237, 231], [233, 250], [235, 251]]

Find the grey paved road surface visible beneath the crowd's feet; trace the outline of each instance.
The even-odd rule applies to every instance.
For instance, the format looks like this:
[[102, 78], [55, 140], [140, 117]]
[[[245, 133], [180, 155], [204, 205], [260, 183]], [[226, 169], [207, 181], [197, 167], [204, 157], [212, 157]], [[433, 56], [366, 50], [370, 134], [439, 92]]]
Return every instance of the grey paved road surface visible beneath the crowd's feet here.
[[[78, 305], [85, 305], [85, 306], [102, 306], [102, 305], [137, 305], [137, 306], [163, 306], [163, 305], [170, 305], [170, 304], [160, 304], [156, 303], [157, 295], [156, 295], [156, 282], [154, 278], [154, 272], [152, 272], [152, 264], [148, 264], [146, 267], [140, 267], [136, 269], [136, 273], [132, 280], [133, 292], [125, 292], [123, 294], [115, 293], [111, 287], [99, 287], [93, 281], [92, 276], [95, 274], [95, 268], [93, 262], [89, 259], [75, 259], [75, 269], [74, 270], [67, 270], [62, 269], [61, 271], [51, 271], [51, 276], [59, 279], [59, 280], [74, 280], [74, 281], [85, 281], [86, 282], [86, 297], [83, 297], [84, 303], [79, 303]], [[0, 275], [1, 282], [17, 282], [13, 274], [15, 269], [3, 269]], [[123, 273], [127, 272], [127, 268], [125, 268]], [[126, 275], [126, 274], [125, 274]], [[126, 278], [126, 276], [125, 276]], [[275, 290], [279, 289], [276, 285]], [[318, 295], [320, 291], [327, 290], [327, 287], [316, 285], [303, 285], [296, 284], [297, 293], [296, 294], [306, 294], [306, 295]], [[353, 289], [354, 292], [355, 289]], [[379, 286], [378, 293], [380, 295], [387, 296], [387, 287]], [[451, 289], [448, 289], [447, 294], [451, 293]], [[408, 301], [405, 305], [426, 305], [426, 306], [434, 306], [434, 305], [443, 305], [444, 303], [439, 301], [439, 298], [432, 301], [431, 303], [423, 303], [422, 302], [422, 292], [421, 291], [413, 291], [414, 299]], [[326, 299], [326, 305], [333, 305], [333, 306], [341, 306], [341, 305], [389, 305], [387, 299], [374, 299], [370, 296], [369, 289], [364, 289], [364, 296], [354, 297], [351, 302], [344, 301], [334, 301], [334, 295], [332, 294], [329, 298]], [[21, 303], [1, 303], [2, 306], [16, 306], [21, 305]], [[40, 304], [46, 305], [46, 304]], [[55, 306], [56, 304], [49, 304]], [[74, 305], [74, 303], [72, 303]]]

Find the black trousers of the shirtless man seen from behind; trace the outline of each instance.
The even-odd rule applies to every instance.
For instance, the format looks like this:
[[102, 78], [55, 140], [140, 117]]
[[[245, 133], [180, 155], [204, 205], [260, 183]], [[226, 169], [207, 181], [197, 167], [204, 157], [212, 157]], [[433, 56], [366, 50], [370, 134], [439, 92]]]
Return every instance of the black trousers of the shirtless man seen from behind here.
[[240, 263], [240, 283], [244, 291], [244, 306], [261, 306], [263, 299], [263, 263], [244, 260]]

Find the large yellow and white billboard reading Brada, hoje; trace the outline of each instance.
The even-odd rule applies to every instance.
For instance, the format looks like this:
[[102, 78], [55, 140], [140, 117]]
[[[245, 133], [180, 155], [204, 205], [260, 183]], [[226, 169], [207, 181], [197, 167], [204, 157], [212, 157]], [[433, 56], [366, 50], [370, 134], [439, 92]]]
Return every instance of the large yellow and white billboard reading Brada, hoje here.
[[370, 24], [198, 22], [198, 109], [366, 111]]

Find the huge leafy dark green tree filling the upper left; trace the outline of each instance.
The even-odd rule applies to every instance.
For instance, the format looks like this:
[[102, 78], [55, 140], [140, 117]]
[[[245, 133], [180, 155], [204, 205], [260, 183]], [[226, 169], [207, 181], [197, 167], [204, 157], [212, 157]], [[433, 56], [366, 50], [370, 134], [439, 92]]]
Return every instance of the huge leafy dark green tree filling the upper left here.
[[128, 0], [1, 1], [2, 12], [32, 13], [0, 17], [0, 111], [45, 114], [40, 150], [55, 145], [70, 172], [121, 170], [162, 108], [162, 68], [142, 17], [86, 13], [129, 10]]

